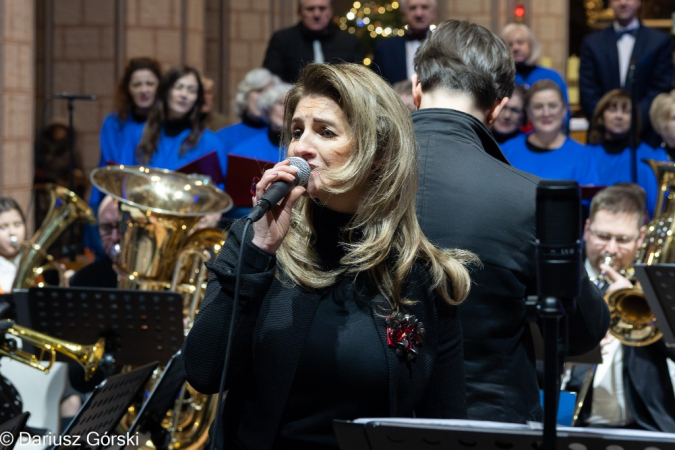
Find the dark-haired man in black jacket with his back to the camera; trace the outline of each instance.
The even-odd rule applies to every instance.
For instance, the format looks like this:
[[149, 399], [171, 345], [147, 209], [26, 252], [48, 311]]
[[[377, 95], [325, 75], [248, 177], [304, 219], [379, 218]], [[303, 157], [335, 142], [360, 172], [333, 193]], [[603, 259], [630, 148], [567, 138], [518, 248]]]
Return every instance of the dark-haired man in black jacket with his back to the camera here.
[[[460, 305], [470, 419], [542, 420], [525, 301], [537, 293], [536, 194], [540, 178], [512, 167], [487, 126], [514, 89], [504, 41], [468, 22], [442, 23], [415, 56], [412, 113], [420, 150], [417, 216], [429, 240], [476, 253]], [[605, 335], [607, 305], [585, 270], [568, 316], [569, 354]]]

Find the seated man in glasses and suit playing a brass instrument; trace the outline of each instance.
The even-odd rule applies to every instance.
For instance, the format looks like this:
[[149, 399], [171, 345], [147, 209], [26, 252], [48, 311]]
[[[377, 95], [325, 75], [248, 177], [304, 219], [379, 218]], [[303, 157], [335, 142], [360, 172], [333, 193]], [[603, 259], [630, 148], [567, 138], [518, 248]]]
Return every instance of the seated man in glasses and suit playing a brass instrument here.
[[[591, 202], [584, 228], [586, 268], [595, 276], [604, 274], [607, 294], [632, 287], [622, 271], [632, 267], [644, 240], [644, 212], [645, 193], [634, 184], [603, 189]], [[574, 366], [566, 386], [582, 392], [591, 371], [577, 424], [675, 432], [675, 397], [666, 362], [675, 360], [675, 348], [662, 340], [643, 347], [623, 345], [611, 334], [601, 347], [603, 363]]]

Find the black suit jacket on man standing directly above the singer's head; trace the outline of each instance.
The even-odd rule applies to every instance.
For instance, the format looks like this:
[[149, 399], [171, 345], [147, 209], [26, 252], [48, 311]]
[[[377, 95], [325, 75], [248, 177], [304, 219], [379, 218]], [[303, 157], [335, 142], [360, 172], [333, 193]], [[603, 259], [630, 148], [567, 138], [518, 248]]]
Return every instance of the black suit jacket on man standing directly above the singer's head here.
[[321, 42], [325, 62], [363, 62], [363, 49], [356, 36], [332, 23], [321, 32], [312, 32], [298, 23], [272, 35], [263, 67], [285, 82], [295, 83], [302, 68], [314, 61], [315, 39]]

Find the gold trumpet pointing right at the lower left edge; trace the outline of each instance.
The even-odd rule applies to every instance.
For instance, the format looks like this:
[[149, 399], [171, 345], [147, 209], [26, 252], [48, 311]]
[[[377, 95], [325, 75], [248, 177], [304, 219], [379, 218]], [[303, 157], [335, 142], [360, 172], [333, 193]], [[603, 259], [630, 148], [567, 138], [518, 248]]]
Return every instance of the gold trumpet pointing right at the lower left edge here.
[[[11, 339], [5, 339], [0, 345], [0, 355], [15, 361], [27, 364], [34, 369], [49, 373], [56, 361], [56, 352], [77, 361], [84, 368], [85, 380], [91, 379], [101, 362], [105, 350], [105, 340], [99, 339], [94, 345], [79, 345], [72, 342], [56, 339], [43, 333], [31, 330], [21, 325], [14, 324], [11, 320], [0, 321], [0, 329], [5, 334], [21, 339], [24, 343], [31, 344], [40, 350], [39, 355], [28, 353], [16, 348], [16, 343]], [[45, 354], [49, 354], [47, 365], [41, 363]]]

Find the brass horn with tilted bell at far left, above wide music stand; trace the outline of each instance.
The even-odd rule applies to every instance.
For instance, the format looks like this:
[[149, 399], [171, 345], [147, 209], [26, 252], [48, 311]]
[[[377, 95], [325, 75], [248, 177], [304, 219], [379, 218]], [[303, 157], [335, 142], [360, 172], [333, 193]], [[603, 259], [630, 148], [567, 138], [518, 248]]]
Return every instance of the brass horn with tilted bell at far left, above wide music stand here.
[[35, 188], [48, 191], [50, 207], [33, 238], [26, 243], [17, 241], [17, 244], [23, 246], [23, 250], [12, 290], [28, 289], [34, 286], [45, 268], [44, 265], [41, 265], [45, 259], [48, 261], [48, 266], [55, 267], [59, 271], [63, 282], [63, 272], [51, 255], [47, 254], [46, 249], [75, 220], [83, 220], [90, 224], [96, 223], [96, 216], [89, 205], [73, 191], [55, 184], [40, 184], [36, 185]]

